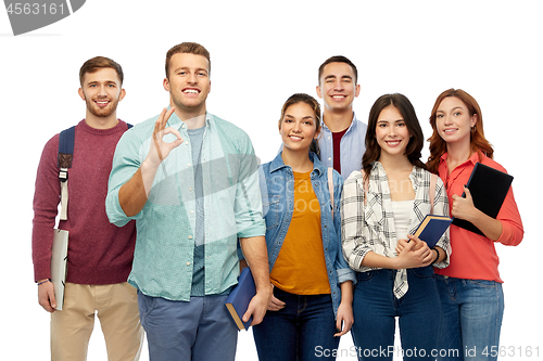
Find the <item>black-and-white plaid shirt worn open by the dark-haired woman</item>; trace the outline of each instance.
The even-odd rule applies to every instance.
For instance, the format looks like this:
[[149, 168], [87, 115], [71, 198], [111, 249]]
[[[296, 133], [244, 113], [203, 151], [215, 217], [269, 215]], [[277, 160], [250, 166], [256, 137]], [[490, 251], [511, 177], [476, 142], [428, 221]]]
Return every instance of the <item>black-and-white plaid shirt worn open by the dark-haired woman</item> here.
[[[413, 234], [426, 215], [430, 214], [430, 172], [413, 167], [409, 180], [415, 191], [413, 211], [409, 216], [409, 233]], [[397, 257], [397, 243], [392, 199], [387, 173], [379, 162], [375, 162], [369, 173], [367, 202], [364, 205], [364, 179], [361, 171], [353, 171], [343, 185], [341, 195], [341, 234], [343, 256], [349, 266], [357, 272], [372, 270], [362, 267], [362, 260], [368, 252], [386, 257]], [[449, 216], [449, 201], [443, 181], [438, 178], [433, 214]], [[449, 266], [451, 246], [449, 230], [437, 246], [445, 249], [444, 261], [433, 265], [438, 268]], [[406, 270], [399, 270], [394, 280], [394, 296], [403, 297], [408, 289]]]

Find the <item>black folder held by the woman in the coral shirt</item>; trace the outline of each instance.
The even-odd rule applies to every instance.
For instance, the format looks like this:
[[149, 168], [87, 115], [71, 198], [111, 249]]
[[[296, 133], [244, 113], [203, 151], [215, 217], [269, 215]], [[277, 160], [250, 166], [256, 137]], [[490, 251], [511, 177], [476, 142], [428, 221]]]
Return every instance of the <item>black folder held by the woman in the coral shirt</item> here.
[[[512, 182], [513, 176], [477, 163], [466, 186], [473, 198], [473, 206], [487, 216], [496, 218]], [[465, 197], [466, 194], [462, 196]], [[484, 235], [473, 223], [465, 219], [453, 218], [453, 224]]]

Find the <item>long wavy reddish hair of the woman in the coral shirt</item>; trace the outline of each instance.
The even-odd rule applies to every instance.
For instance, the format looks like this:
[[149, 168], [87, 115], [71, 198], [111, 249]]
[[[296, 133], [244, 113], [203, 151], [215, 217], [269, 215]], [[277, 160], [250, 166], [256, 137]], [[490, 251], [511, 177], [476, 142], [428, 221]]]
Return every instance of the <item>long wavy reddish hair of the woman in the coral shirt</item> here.
[[451, 88], [445, 90], [438, 96], [430, 115], [430, 125], [432, 126], [433, 133], [430, 139], [428, 139], [428, 141], [430, 142], [430, 156], [428, 157], [428, 163], [426, 165], [428, 166], [428, 170], [430, 170], [432, 173], [438, 172], [441, 156], [446, 152], [446, 142], [438, 133], [435, 119], [441, 102], [447, 96], [455, 96], [459, 99], [468, 108], [469, 116], [473, 116], [477, 114], [477, 124], [471, 130], [470, 136], [471, 151], [478, 152], [480, 155], [484, 154], [489, 158], [492, 158], [494, 156], [494, 149], [487, 140], [487, 138], [484, 138], [482, 114], [479, 104], [473, 96], [471, 96], [464, 90]]

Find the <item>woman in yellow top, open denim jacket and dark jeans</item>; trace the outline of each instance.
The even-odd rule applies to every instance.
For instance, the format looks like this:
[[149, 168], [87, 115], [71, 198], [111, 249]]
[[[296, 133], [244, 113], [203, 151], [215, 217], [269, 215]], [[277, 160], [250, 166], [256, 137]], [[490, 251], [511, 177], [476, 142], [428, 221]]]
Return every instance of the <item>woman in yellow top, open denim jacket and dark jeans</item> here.
[[353, 324], [355, 278], [341, 250], [343, 179], [320, 163], [319, 131], [318, 102], [290, 96], [279, 119], [282, 152], [258, 169], [274, 285], [268, 312], [253, 327], [261, 361], [334, 360]]

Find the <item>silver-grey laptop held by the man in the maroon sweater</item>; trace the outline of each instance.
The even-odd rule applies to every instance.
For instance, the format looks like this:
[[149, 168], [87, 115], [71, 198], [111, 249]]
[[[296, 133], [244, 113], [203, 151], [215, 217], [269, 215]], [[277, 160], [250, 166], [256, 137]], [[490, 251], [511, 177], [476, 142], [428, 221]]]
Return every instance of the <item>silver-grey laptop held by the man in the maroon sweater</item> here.
[[67, 271], [68, 231], [54, 229], [53, 247], [51, 249], [51, 282], [54, 287], [56, 310], [62, 311], [64, 306], [64, 287]]

